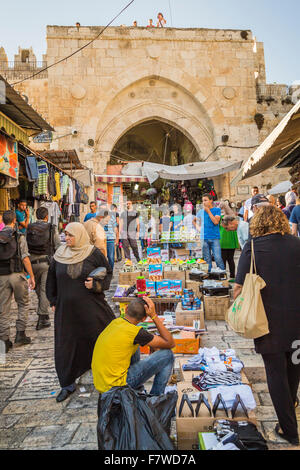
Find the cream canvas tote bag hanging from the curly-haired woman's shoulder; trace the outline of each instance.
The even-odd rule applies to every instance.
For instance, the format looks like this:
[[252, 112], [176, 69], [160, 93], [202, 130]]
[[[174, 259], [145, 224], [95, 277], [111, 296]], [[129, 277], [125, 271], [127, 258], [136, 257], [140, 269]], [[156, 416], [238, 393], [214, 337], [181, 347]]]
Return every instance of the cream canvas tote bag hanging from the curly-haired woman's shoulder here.
[[246, 275], [241, 295], [236, 298], [225, 316], [229, 327], [244, 338], [261, 338], [270, 332], [260, 292], [265, 286], [265, 281], [256, 271], [254, 244], [251, 240], [250, 273]]

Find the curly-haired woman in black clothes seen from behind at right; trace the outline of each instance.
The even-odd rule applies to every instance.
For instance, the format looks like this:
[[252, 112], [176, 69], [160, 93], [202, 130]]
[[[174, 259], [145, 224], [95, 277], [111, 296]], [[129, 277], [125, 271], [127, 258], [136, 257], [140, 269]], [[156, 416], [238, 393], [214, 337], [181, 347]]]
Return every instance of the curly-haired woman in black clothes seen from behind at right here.
[[[300, 382], [300, 240], [290, 234], [288, 220], [274, 206], [257, 211], [250, 233], [257, 275], [266, 284], [261, 298], [269, 325], [269, 333], [254, 340], [255, 350], [262, 355], [279, 421], [275, 432], [299, 445], [295, 403]], [[235, 299], [250, 272], [251, 251], [249, 241], [239, 261]]]

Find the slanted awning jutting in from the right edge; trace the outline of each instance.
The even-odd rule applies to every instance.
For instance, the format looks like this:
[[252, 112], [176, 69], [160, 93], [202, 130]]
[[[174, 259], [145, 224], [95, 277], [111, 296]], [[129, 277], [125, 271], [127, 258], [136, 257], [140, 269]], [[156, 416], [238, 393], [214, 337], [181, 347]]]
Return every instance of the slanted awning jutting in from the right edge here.
[[256, 176], [275, 165], [283, 167], [287, 160], [289, 166], [292, 166], [299, 157], [300, 101], [246, 161], [231, 185], [235, 186], [239, 181]]

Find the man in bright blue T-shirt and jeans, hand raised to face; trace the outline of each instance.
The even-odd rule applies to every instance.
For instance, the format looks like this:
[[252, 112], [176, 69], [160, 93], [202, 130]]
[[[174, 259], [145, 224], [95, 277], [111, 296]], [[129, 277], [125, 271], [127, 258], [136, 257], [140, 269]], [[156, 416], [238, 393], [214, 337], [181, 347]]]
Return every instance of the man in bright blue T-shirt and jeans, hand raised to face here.
[[[197, 221], [201, 223], [200, 239], [202, 240], [202, 255], [208, 264], [208, 271], [212, 268], [212, 255], [218, 268], [225, 270], [221, 255], [220, 229], [221, 209], [214, 207], [213, 197], [204, 194], [202, 198], [203, 209], [197, 214]], [[198, 227], [198, 224], [197, 224]]]

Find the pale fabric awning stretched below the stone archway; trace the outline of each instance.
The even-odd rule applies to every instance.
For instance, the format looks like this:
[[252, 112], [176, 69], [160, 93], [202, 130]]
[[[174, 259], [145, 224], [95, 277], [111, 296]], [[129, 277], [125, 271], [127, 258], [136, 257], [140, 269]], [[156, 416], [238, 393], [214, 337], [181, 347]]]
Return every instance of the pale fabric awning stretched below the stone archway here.
[[179, 166], [168, 166], [145, 162], [142, 173], [144, 176], [147, 176], [150, 184], [158, 178], [185, 181], [224, 175], [225, 173], [238, 170], [242, 166], [242, 163], [243, 160], [215, 160], [210, 162], [187, 163]]

